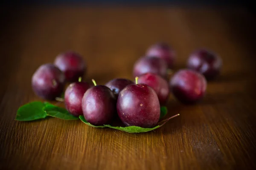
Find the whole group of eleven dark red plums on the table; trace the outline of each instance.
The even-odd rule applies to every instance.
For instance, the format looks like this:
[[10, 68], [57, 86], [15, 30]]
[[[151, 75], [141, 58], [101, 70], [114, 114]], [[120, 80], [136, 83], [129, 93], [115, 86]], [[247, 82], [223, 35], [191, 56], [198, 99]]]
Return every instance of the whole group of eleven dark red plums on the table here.
[[86, 64], [73, 51], [60, 54], [53, 64], [41, 65], [32, 77], [32, 88], [38, 96], [55, 100], [64, 91], [65, 82], [72, 82], [64, 94], [67, 111], [84, 115], [92, 125], [110, 124], [116, 113], [126, 126], [154, 127], [159, 121], [160, 106], [166, 105], [172, 93], [182, 103], [200, 101], [207, 80], [214, 79], [221, 69], [218, 55], [205, 49], [193, 52], [187, 68], [169, 79], [176, 54], [166, 43], [148, 48], [145, 57], [134, 64], [135, 82], [113, 79], [105, 85], [82, 82]]

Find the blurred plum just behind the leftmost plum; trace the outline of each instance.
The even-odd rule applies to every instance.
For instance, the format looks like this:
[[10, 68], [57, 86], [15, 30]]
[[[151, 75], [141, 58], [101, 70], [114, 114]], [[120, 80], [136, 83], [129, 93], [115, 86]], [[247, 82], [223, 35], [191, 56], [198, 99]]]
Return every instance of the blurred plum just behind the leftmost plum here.
[[74, 51], [59, 54], [54, 64], [64, 72], [68, 82], [75, 82], [79, 77], [83, 77], [87, 69], [81, 55]]

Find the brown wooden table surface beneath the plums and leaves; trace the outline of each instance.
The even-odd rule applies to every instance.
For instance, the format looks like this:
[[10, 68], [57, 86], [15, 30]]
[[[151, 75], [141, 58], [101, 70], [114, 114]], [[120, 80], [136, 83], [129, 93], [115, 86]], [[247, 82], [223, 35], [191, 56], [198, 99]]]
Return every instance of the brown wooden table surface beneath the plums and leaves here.
[[[256, 168], [255, 20], [244, 8], [175, 6], [55, 6], [1, 11], [1, 170], [188, 170]], [[49, 118], [16, 122], [17, 109], [39, 100], [34, 71], [63, 51], [87, 61], [98, 84], [133, 79], [134, 62], [149, 45], [177, 51], [175, 71], [206, 47], [223, 59], [205, 99], [182, 105], [170, 97], [165, 126], [148, 133], [96, 129]]]

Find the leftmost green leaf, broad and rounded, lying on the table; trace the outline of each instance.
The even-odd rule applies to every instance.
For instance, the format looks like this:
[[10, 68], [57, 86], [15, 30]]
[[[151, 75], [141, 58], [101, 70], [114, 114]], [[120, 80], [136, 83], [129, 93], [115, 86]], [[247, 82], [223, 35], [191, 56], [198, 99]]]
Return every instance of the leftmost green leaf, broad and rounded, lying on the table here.
[[15, 120], [18, 121], [32, 121], [46, 118], [47, 114], [43, 111], [44, 103], [30, 102], [26, 105], [20, 106], [17, 110]]

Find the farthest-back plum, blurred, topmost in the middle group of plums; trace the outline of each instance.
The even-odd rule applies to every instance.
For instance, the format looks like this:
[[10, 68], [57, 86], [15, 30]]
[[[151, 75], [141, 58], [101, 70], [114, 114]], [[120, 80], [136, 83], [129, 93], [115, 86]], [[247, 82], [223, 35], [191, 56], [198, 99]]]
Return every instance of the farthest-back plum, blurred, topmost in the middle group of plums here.
[[168, 68], [172, 69], [176, 54], [167, 43], [159, 42], [148, 48], [146, 56], [162, 58], [167, 63]]

